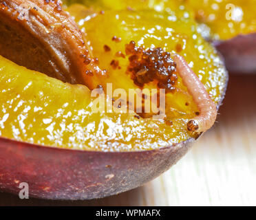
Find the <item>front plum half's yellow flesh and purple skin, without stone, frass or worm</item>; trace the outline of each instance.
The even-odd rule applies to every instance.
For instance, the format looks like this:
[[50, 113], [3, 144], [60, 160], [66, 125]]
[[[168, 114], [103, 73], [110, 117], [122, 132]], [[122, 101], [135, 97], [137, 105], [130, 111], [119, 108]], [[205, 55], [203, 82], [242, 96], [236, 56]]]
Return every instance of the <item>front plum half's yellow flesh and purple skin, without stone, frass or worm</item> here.
[[182, 55], [217, 109], [224, 97], [226, 69], [186, 11], [173, 8], [172, 17], [154, 10], [103, 13], [83, 5], [67, 11], [85, 34], [98, 69], [105, 71], [87, 74], [85, 85], [72, 85], [0, 56], [0, 188], [5, 192], [17, 194], [19, 184], [27, 182], [31, 197], [106, 197], [145, 184], [186, 153], [200, 136], [186, 127], [198, 106], [179, 69], [173, 72], [177, 80], [166, 95], [163, 120], [136, 111], [92, 113], [95, 87], [142, 87], [131, 74], [137, 67], [129, 54], [134, 50], [143, 57], [160, 47], [161, 56]]

